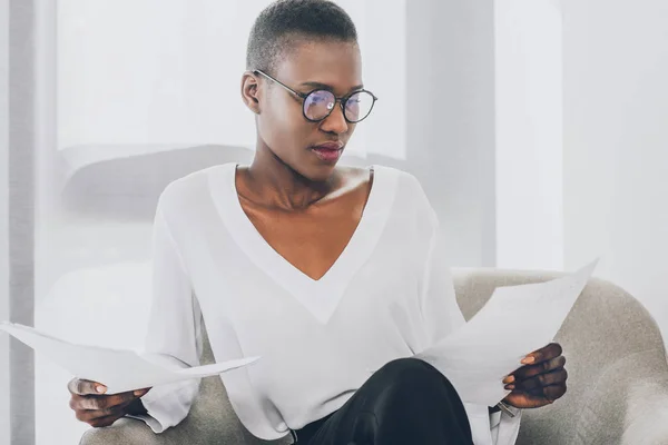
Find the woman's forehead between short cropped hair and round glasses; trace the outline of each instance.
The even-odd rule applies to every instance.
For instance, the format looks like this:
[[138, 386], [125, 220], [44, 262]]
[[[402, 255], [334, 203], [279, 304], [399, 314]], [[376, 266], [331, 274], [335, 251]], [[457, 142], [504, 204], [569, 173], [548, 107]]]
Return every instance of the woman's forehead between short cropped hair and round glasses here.
[[362, 85], [362, 58], [355, 42], [310, 40], [291, 42], [276, 65], [282, 81], [295, 85], [320, 82], [347, 92]]

